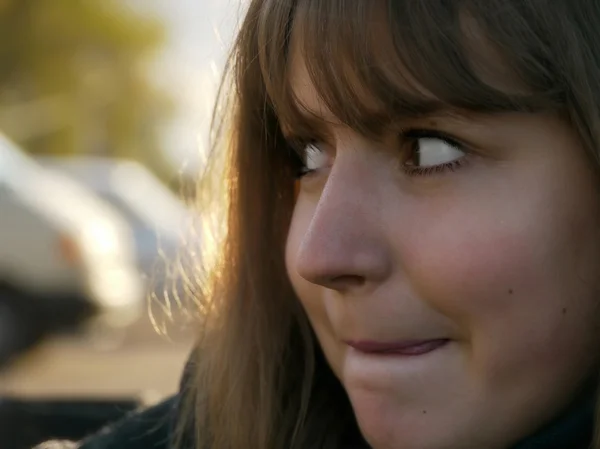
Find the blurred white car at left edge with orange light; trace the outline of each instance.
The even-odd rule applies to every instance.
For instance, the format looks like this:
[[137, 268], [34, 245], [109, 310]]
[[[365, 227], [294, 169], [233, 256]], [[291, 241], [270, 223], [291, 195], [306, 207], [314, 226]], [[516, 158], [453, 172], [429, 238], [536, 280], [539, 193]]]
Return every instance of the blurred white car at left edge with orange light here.
[[143, 299], [127, 223], [0, 135], [0, 362], [42, 330], [127, 326]]

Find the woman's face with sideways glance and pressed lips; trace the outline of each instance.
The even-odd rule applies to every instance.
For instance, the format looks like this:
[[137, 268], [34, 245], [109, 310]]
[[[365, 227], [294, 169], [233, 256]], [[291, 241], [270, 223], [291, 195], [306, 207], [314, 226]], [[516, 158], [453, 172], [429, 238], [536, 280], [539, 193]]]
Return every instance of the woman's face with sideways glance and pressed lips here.
[[494, 449], [534, 432], [595, 366], [600, 198], [575, 133], [440, 114], [369, 139], [291, 69], [323, 122], [287, 270], [365, 438]]

